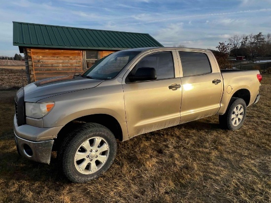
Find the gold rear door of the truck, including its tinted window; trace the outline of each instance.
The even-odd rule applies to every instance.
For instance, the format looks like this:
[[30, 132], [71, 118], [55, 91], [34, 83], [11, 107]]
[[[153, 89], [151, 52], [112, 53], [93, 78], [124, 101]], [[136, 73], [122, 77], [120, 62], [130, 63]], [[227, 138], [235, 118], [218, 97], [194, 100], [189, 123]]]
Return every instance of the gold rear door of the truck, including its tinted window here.
[[223, 81], [217, 66], [210, 64], [212, 55], [204, 51], [178, 53], [182, 70], [180, 123], [214, 115], [220, 107]]

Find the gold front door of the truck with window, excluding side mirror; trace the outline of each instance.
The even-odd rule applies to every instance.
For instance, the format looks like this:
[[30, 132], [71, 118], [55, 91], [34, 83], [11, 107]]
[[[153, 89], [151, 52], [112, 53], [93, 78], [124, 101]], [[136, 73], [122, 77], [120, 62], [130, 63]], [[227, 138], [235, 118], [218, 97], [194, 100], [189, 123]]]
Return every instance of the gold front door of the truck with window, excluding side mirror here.
[[[129, 137], [178, 125], [182, 95], [176, 51], [146, 53], [135, 63], [129, 72], [135, 72], [137, 68], [155, 68], [157, 79], [130, 82], [129, 72], [124, 76], [122, 83]], [[171, 88], [176, 85], [177, 88]]]

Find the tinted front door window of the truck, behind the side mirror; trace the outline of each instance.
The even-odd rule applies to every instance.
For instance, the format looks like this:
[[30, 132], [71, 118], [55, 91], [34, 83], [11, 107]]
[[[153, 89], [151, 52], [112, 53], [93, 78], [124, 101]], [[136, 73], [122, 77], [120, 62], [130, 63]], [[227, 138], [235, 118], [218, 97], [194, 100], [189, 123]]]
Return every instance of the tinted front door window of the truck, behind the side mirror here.
[[158, 80], [174, 77], [174, 65], [171, 52], [150, 54], [136, 64], [133, 72], [136, 71], [137, 68], [155, 68]]

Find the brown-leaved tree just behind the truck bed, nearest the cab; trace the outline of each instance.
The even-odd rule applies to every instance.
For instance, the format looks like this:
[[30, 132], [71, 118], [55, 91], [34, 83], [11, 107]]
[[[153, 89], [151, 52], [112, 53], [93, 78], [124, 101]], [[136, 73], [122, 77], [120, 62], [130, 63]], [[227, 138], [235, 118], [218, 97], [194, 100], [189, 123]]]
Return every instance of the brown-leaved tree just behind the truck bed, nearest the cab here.
[[219, 42], [218, 46], [215, 47], [218, 52], [215, 52], [215, 58], [220, 69], [232, 69], [232, 64], [229, 61], [229, 54], [230, 54], [230, 43]]

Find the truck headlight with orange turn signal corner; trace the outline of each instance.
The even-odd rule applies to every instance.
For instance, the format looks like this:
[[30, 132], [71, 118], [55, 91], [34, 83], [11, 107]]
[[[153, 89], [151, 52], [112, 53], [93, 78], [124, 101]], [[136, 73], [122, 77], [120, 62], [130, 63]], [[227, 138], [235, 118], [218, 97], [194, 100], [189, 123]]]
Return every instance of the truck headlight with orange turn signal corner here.
[[26, 102], [26, 116], [31, 118], [41, 118], [45, 116], [53, 107], [55, 103], [29, 103]]

